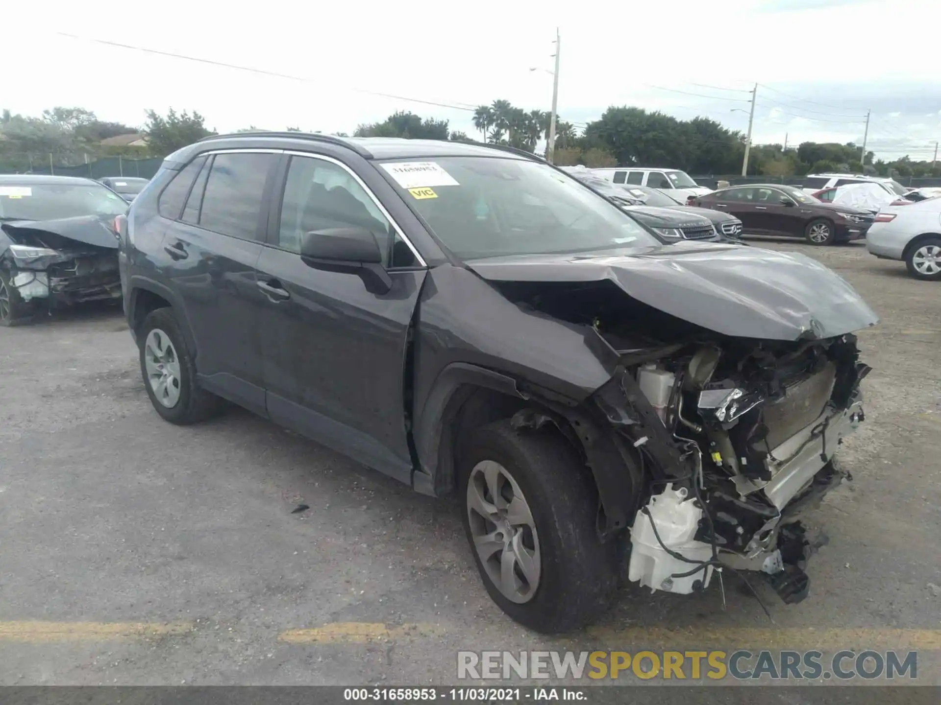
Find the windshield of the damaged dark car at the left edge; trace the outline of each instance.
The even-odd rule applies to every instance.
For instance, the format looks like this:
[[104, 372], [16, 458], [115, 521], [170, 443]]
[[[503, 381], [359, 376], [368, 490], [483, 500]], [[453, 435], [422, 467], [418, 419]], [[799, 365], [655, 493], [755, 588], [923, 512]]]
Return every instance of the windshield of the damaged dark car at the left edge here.
[[78, 215], [120, 215], [127, 202], [102, 184], [0, 184], [3, 220], [56, 220]]

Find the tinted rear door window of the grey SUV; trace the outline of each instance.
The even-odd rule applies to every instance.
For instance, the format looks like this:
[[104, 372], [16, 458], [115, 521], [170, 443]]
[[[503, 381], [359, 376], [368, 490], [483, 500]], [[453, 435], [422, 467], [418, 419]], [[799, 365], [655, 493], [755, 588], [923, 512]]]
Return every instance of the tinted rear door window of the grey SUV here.
[[259, 239], [264, 181], [272, 154], [216, 154], [199, 211], [199, 226], [242, 240]]

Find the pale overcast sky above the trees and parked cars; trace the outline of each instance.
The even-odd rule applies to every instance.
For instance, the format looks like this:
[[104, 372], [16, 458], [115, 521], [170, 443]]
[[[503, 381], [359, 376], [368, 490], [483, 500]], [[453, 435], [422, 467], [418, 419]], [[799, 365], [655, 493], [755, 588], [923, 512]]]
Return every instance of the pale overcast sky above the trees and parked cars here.
[[637, 105], [744, 132], [758, 82], [756, 143], [787, 134], [789, 144], [861, 144], [869, 108], [878, 157], [931, 159], [941, 138], [937, 0], [4, 5], [3, 24], [18, 29], [3, 36], [0, 107], [14, 113], [79, 105], [140, 125], [145, 109], [174, 107], [198, 110], [220, 132], [253, 124], [351, 133], [411, 110], [473, 133], [461, 107], [502, 98], [550, 108], [558, 26], [559, 114], [567, 120]]

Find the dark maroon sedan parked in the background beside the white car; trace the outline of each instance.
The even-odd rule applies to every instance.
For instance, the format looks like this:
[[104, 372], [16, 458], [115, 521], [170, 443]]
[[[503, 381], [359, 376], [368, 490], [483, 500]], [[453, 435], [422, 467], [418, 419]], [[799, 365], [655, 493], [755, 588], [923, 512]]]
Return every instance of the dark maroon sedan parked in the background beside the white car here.
[[805, 238], [817, 245], [864, 238], [872, 224], [867, 211], [823, 203], [799, 188], [773, 183], [720, 189], [692, 204], [731, 213], [747, 233]]

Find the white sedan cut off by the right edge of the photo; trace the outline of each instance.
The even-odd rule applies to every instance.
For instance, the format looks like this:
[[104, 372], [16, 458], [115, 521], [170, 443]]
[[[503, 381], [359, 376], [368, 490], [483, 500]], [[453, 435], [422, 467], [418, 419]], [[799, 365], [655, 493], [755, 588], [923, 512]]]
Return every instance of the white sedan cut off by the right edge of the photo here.
[[941, 196], [885, 206], [866, 236], [878, 258], [901, 259], [916, 279], [941, 280]]

